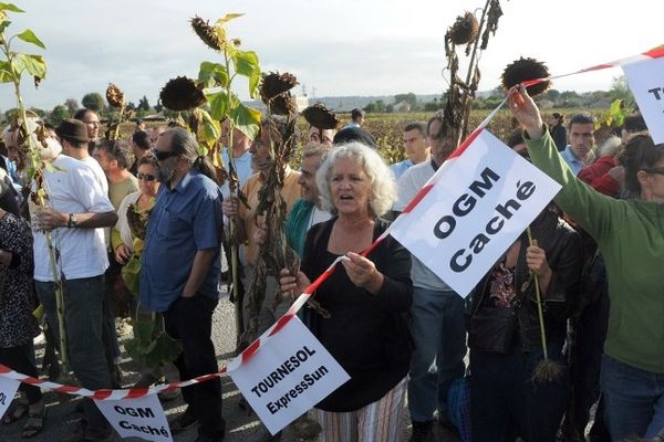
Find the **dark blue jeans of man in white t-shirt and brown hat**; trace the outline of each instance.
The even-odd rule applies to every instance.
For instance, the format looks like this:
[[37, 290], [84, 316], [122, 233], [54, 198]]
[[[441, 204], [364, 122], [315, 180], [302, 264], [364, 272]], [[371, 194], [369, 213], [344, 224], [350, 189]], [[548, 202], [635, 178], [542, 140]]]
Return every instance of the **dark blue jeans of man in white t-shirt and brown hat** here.
[[[55, 284], [34, 282], [37, 296], [44, 306], [49, 327], [60, 343], [58, 314], [55, 312]], [[104, 275], [68, 280], [64, 288], [64, 323], [70, 368], [81, 387], [90, 390], [111, 388], [111, 375], [106, 365], [102, 341], [102, 303], [104, 301]], [[92, 400], [84, 401], [87, 427], [85, 436], [102, 440], [111, 433], [111, 427]]]

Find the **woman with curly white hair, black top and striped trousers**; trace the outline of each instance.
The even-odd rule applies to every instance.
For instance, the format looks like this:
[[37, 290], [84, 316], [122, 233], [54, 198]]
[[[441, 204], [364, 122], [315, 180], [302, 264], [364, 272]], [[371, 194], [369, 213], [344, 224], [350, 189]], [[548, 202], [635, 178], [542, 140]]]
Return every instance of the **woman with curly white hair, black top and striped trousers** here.
[[342, 264], [315, 292], [330, 313], [309, 327], [351, 376], [317, 404], [321, 441], [401, 441], [412, 341], [406, 314], [413, 297], [411, 255], [388, 236], [380, 217], [396, 198], [390, 169], [371, 148], [333, 149], [317, 172], [323, 210], [333, 218], [307, 235], [302, 270], [281, 271], [281, 291], [298, 295], [339, 256]]

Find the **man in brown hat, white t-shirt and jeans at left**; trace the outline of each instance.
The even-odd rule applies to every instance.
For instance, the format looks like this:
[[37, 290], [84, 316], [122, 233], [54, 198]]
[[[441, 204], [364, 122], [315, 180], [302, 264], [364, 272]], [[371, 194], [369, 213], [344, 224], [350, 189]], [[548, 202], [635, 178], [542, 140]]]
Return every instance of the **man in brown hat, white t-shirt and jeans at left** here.
[[[64, 155], [58, 155], [51, 161], [53, 168], [43, 170], [48, 207], [32, 207], [31, 210], [34, 287], [44, 306], [49, 327], [58, 337], [56, 282], [44, 233], [48, 231], [60, 254], [70, 368], [81, 387], [108, 389], [111, 373], [102, 338], [104, 272], [108, 267], [103, 228], [115, 225], [117, 214], [93, 169], [76, 158], [87, 152], [85, 124], [65, 119], [58, 127], [58, 134], [64, 143]], [[84, 420], [65, 431], [62, 441], [111, 440], [112, 429], [92, 400], [85, 399], [83, 407]]]

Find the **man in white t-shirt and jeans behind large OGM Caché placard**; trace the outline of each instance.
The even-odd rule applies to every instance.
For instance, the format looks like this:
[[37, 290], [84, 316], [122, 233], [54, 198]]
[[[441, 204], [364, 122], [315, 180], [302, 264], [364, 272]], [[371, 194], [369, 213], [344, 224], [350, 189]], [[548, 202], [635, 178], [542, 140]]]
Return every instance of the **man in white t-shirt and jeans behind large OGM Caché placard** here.
[[[397, 183], [395, 211], [402, 211], [449, 155], [449, 140], [440, 134], [443, 115], [427, 123], [432, 159], [407, 169]], [[452, 381], [464, 376], [466, 325], [464, 299], [417, 257], [411, 267], [413, 280], [413, 340], [408, 381], [408, 411], [413, 420], [412, 442], [432, 440], [434, 414], [449, 423], [447, 391]]]

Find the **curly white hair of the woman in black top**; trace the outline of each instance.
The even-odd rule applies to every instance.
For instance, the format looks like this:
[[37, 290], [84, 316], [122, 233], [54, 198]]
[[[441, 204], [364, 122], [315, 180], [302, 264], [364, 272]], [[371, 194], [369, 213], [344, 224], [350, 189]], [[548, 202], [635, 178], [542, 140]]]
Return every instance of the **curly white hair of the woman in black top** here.
[[336, 213], [332, 200], [332, 168], [340, 159], [352, 159], [357, 162], [369, 177], [370, 197], [369, 206], [373, 214], [380, 217], [386, 213], [396, 201], [396, 182], [385, 161], [371, 147], [352, 141], [341, 145], [330, 151], [315, 173], [315, 183], [319, 189], [321, 208], [331, 213]]

